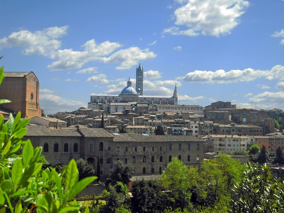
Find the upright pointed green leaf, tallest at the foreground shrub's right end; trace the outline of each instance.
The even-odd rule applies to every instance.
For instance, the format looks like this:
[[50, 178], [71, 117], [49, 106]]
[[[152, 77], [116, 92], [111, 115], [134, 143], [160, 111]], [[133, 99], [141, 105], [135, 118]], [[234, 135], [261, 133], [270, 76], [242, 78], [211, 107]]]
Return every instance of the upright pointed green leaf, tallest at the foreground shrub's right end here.
[[66, 187], [66, 191], [68, 191], [69, 193], [72, 190], [72, 187], [75, 185], [75, 183], [78, 181], [78, 177], [79, 177], [79, 172], [77, 169], [77, 165], [74, 159], [72, 159], [67, 168], [66, 168], [66, 172], [65, 172], [65, 187]]

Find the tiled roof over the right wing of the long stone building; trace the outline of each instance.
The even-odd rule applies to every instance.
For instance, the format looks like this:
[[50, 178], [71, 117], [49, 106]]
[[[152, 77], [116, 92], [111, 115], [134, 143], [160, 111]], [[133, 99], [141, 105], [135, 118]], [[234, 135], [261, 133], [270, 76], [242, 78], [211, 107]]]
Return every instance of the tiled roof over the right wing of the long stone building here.
[[189, 136], [189, 135], [142, 135], [142, 134], [120, 134], [119, 136], [114, 136], [114, 141], [117, 142], [127, 142], [127, 141], [133, 141], [133, 142], [170, 142], [170, 141], [200, 141], [203, 142], [203, 140], [200, 140], [197, 137]]

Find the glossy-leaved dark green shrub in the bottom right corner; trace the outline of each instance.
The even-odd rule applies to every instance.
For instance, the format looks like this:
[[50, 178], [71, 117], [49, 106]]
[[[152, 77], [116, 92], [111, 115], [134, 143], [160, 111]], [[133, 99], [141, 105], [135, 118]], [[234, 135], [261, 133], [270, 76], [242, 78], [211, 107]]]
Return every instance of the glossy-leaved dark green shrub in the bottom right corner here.
[[247, 165], [243, 179], [233, 189], [230, 212], [260, 213], [284, 211], [284, 184], [273, 180], [269, 166]]

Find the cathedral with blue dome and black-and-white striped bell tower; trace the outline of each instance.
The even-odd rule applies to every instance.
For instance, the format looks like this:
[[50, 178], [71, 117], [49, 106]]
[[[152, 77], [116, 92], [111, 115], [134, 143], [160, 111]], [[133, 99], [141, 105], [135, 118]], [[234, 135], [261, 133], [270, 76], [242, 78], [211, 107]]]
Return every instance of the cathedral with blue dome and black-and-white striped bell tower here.
[[[101, 105], [109, 105], [111, 103], [132, 103], [145, 102], [148, 104], [178, 104], [177, 86], [173, 92], [173, 96], [144, 96], [143, 95], [143, 67], [139, 64], [136, 68], [136, 85], [134, 89], [131, 85], [131, 80], [127, 82], [127, 86], [123, 88], [119, 95], [91, 95], [91, 102], [88, 103], [88, 108], [106, 108]], [[109, 108], [110, 109], [110, 108]]]

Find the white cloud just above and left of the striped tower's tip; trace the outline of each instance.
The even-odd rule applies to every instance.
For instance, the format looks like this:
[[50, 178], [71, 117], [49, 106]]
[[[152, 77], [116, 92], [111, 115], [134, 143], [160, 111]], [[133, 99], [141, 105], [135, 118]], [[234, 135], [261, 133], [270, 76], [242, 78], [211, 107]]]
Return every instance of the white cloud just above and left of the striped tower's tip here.
[[110, 57], [103, 57], [100, 60], [104, 63], [121, 63], [120, 66], [115, 67], [117, 70], [128, 70], [133, 65], [137, 64], [139, 60], [147, 60], [155, 58], [157, 55], [149, 51], [149, 48], [141, 50], [138, 47], [130, 47], [122, 49]]

